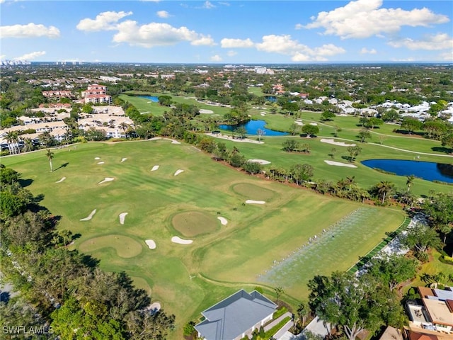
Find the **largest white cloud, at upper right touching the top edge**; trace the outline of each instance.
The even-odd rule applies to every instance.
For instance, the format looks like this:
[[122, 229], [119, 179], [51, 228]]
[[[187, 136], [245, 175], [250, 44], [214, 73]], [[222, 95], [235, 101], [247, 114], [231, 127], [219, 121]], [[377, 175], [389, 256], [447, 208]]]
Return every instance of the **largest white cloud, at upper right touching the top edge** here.
[[428, 8], [380, 8], [382, 0], [350, 1], [333, 11], [320, 12], [313, 22], [296, 27], [324, 28], [326, 35], [338, 35], [342, 39], [368, 38], [382, 33], [395, 33], [401, 26], [424, 26], [449, 22], [448, 16], [435, 14]]

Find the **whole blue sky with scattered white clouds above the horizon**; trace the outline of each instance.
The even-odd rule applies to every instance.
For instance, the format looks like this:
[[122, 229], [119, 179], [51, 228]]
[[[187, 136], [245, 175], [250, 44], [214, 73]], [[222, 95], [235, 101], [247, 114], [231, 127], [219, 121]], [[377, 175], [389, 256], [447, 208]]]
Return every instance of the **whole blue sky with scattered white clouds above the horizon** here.
[[0, 0], [0, 59], [453, 62], [453, 2]]

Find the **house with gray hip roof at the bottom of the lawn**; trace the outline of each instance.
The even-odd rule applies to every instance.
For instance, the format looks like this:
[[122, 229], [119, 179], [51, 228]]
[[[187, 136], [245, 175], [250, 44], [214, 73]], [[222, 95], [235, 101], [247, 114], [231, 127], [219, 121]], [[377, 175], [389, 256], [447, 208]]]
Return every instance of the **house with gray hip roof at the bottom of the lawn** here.
[[198, 336], [206, 340], [239, 340], [259, 329], [273, 317], [277, 305], [253, 290], [241, 289], [203, 311], [205, 320], [195, 326]]

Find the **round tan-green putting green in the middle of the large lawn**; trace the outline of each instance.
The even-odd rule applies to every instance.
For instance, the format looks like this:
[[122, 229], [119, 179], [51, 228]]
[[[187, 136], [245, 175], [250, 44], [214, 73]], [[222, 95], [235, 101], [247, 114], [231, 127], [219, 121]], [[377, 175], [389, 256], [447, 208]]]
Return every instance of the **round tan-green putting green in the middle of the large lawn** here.
[[194, 237], [216, 231], [219, 220], [205, 212], [186, 211], [174, 215], [171, 224], [185, 237]]

